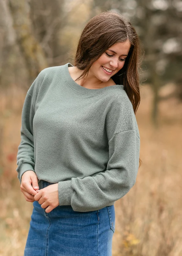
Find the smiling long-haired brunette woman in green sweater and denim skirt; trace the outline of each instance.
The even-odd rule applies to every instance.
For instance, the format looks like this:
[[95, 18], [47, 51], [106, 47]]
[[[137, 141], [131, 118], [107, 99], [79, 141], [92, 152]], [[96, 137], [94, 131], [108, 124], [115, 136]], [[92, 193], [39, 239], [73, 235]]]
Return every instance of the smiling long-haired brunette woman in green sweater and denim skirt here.
[[43, 69], [23, 110], [17, 172], [33, 202], [25, 256], [112, 255], [114, 202], [135, 184], [139, 38], [116, 12], [93, 17], [74, 66]]

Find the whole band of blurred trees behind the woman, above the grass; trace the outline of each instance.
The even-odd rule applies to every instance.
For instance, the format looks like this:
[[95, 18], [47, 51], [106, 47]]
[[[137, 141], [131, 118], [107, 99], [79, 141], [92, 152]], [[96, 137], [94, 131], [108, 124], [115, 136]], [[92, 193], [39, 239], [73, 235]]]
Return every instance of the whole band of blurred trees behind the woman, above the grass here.
[[[27, 73], [31, 80], [44, 67], [61, 65], [70, 51], [74, 54], [84, 24], [106, 10], [129, 18], [141, 38], [145, 49], [141, 77], [154, 91], [152, 116], [157, 125], [158, 102], [169, 98], [159, 96], [159, 89], [174, 82], [178, 85], [177, 96], [182, 99], [181, 0], [0, 1], [0, 78], [5, 76], [5, 69], [9, 73], [11, 62], [16, 64], [17, 56], [19, 65], [12, 69], [17, 69], [17, 77], [18, 72], [21, 77]], [[19, 55], [16, 51], [20, 51]], [[20, 62], [26, 69], [24, 73], [18, 71]], [[1, 83], [8, 79], [6, 74]]]

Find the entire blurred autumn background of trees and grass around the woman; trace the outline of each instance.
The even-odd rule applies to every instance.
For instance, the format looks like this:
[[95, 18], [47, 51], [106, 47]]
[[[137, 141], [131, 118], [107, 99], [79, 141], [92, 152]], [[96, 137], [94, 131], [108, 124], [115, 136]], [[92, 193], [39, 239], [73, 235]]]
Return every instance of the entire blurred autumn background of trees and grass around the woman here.
[[23, 256], [33, 210], [16, 172], [26, 92], [42, 69], [73, 64], [85, 23], [106, 10], [129, 18], [145, 51], [142, 165], [114, 204], [113, 256], [182, 255], [181, 0], [0, 0], [0, 255]]

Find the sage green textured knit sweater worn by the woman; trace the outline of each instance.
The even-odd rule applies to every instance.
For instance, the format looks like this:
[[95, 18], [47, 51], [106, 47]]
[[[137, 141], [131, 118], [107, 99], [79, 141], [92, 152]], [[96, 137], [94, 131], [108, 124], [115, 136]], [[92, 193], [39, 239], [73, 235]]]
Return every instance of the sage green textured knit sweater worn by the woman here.
[[59, 205], [87, 212], [113, 205], [133, 187], [140, 135], [123, 85], [88, 89], [66, 63], [43, 69], [23, 105], [17, 172], [58, 183]]

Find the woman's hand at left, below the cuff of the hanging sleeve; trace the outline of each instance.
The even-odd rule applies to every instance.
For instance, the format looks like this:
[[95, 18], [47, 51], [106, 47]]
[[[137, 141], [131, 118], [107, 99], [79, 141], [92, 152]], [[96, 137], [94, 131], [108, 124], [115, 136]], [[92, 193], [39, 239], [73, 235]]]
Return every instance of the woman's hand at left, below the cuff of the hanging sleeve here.
[[[33, 186], [33, 187], [32, 187]], [[38, 178], [35, 172], [26, 171], [21, 177], [21, 192], [23, 193], [26, 201], [34, 202], [34, 196], [37, 194], [35, 191], [39, 189]]]

